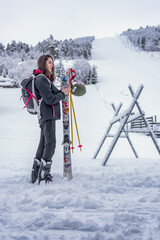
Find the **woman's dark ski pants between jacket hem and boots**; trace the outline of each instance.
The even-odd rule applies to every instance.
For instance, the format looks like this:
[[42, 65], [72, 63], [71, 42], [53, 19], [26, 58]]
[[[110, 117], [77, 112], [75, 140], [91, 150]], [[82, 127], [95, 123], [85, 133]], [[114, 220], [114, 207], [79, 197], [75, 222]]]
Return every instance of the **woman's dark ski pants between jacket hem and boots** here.
[[41, 136], [36, 158], [51, 161], [56, 147], [56, 120], [47, 120], [41, 123]]

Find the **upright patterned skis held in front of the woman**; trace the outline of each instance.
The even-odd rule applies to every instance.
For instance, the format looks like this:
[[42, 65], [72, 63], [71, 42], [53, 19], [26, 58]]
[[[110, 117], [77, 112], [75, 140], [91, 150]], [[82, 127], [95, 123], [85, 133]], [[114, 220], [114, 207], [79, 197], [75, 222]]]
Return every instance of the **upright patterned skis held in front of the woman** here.
[[[61, 88], [69, 87], [70, 70], [61, 77]], [[70, 140], [70, 123], [69, 123], [69, 94], [65, 96], [62, 101], [62, 115], [63, 115], [63, 177], [71, 180], [72, 175], [72, 163], [71, 163], [71, 140]]]

